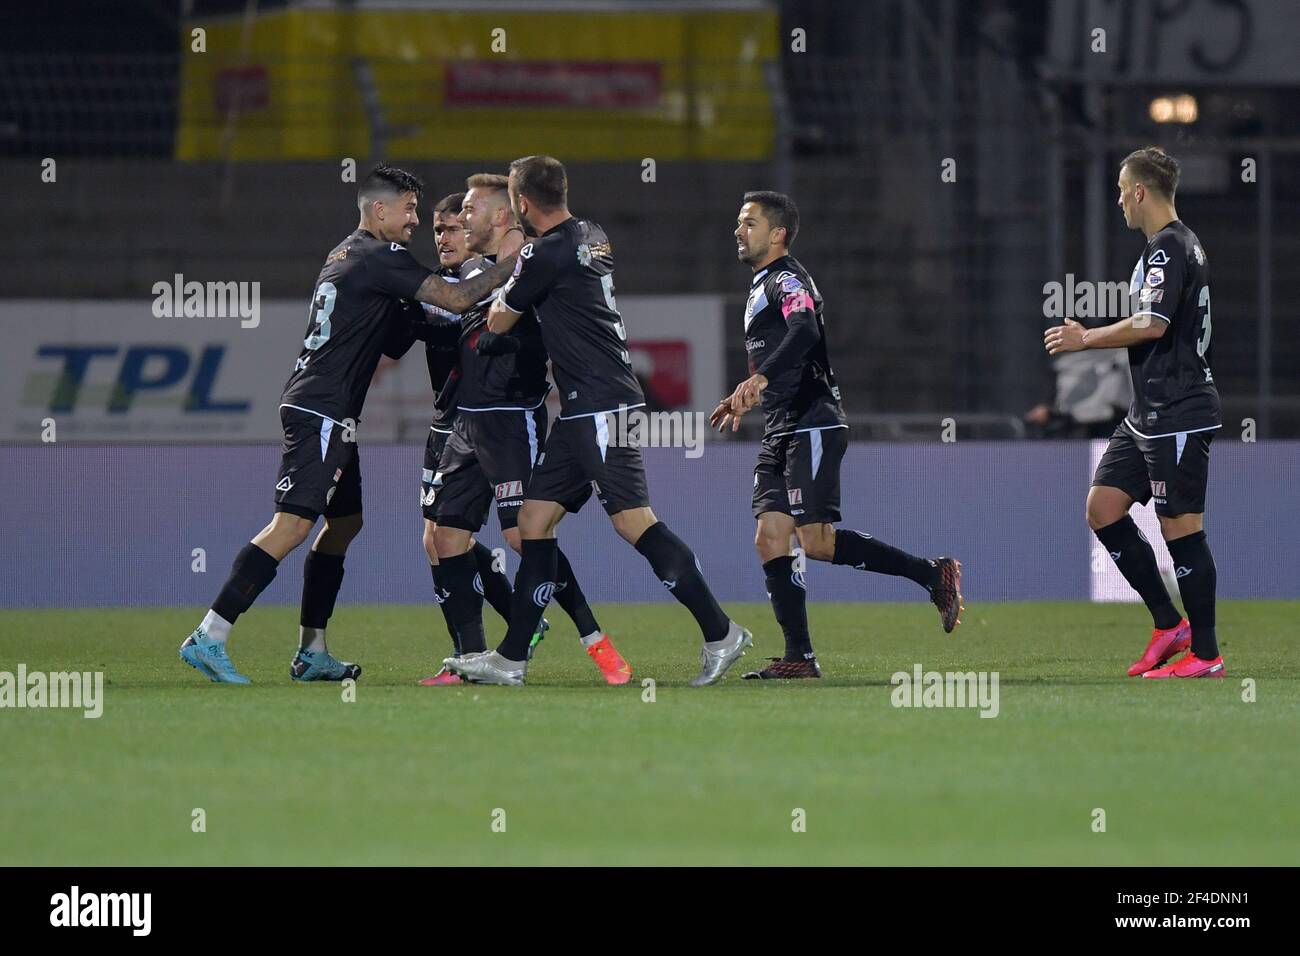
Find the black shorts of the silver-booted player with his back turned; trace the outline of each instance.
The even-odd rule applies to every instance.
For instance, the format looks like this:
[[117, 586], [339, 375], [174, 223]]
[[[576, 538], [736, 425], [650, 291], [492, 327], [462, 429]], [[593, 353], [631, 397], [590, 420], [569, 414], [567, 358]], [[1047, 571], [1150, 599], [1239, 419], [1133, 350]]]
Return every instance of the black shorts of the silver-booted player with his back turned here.
[[573, 514], [582, 510], [593, 490], [610, 515], [649, 507], [641, 449], [611, 442], [611, 418], [602, 412], [556, 421], [533, 468], [526, 497], [559, 502]]

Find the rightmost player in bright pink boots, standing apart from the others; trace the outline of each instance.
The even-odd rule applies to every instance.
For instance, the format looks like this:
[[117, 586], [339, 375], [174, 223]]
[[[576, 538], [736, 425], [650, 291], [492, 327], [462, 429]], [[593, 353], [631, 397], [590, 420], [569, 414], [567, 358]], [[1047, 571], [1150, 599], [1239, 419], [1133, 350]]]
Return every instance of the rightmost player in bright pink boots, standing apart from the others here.
[[[1043, 341], [1049, 355], [1128, 349], [1132, 405], [1097, 464], [1087, 505], [1088, 527], [1154, 626], [1128, 676], [1222, 678], [1214, 558], [1204, 529], [1210, 440], [1221, 424], [1210, 375], [1209, 265], [1196, 233], [1174, 209], [1178, 174], [1178, 160], [1154, 146], [1128, 153], [1119, 165], [1124, 224], [1147, 237], [1128, 284], [1136, 311], [1100, 329], [1067, 319], [1043, 333]], [[1174, 607], [1156, 553], [1128, 515], [1135, 501], [1152, 498], [1187, 618]], [[1166, 663], [1183, 650], [1184, 657]]]

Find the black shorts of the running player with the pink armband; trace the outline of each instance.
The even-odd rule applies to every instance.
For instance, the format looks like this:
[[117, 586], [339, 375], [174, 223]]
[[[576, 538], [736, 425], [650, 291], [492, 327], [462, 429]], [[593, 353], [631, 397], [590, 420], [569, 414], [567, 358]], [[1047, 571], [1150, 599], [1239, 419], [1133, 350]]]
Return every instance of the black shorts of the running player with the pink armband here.
[[819, 428], [763, 441], [754, 466], [754, 518], [777, 511], [794, 524], [840, 520], [840, 462], [848, 428]]

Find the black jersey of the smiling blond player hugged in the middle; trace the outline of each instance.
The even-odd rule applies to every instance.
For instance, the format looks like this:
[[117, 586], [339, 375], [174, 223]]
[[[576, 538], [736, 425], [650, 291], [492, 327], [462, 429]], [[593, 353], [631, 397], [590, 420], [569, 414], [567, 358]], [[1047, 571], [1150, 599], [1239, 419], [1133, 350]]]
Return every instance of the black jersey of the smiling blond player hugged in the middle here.
[[[473, 278], [493, 265], [495, 256], [476, 256], [460, 267], [462, 278]], [[478, 337], [488, 328], [488, 310], [497, 293], [472, 306], [460, 316], [460, 384], [456, 405], [462, 411], [491, 408], [533, 408], [546, 398], [546, 352], [532, 308], [525, 308], [510, 336], [525, 345], [508, 355], [480, 355]]]

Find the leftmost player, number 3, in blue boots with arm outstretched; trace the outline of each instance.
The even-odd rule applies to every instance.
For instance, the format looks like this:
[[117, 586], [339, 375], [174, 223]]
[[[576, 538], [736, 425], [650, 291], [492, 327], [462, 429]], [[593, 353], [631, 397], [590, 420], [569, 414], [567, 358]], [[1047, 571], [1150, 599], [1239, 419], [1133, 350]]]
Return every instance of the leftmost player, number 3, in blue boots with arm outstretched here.
[[[307, 337], [281, 398], [285, 437], [276, 514], [235, 557], [217, 600], [181, 645], [181, 658], [211, 680], [251, 683], [226, 653], [230, 628], [321, 515], [325, 527], [303, 568], [299, 649], [290, 675], [294, 680], [342, 680], [361, 672], [329, 653], [325, 627], [343, 580], [343, 557], [361, 529], [355, 429], [380, 354], [407, 321], [404, 302], [459, 313], [499, 285], [515, 261], [506, 255], [514, 248], [502, 248], [500, 264], [459, 284], [417, 263], [404, 243], [420, 224], [416, 204], [422, 190], [411, 173], [376, 166], [358, 190], [360, 224], [325, 258], [308, 310]], [[517, 246], [517, 237], [510, 245]]]

